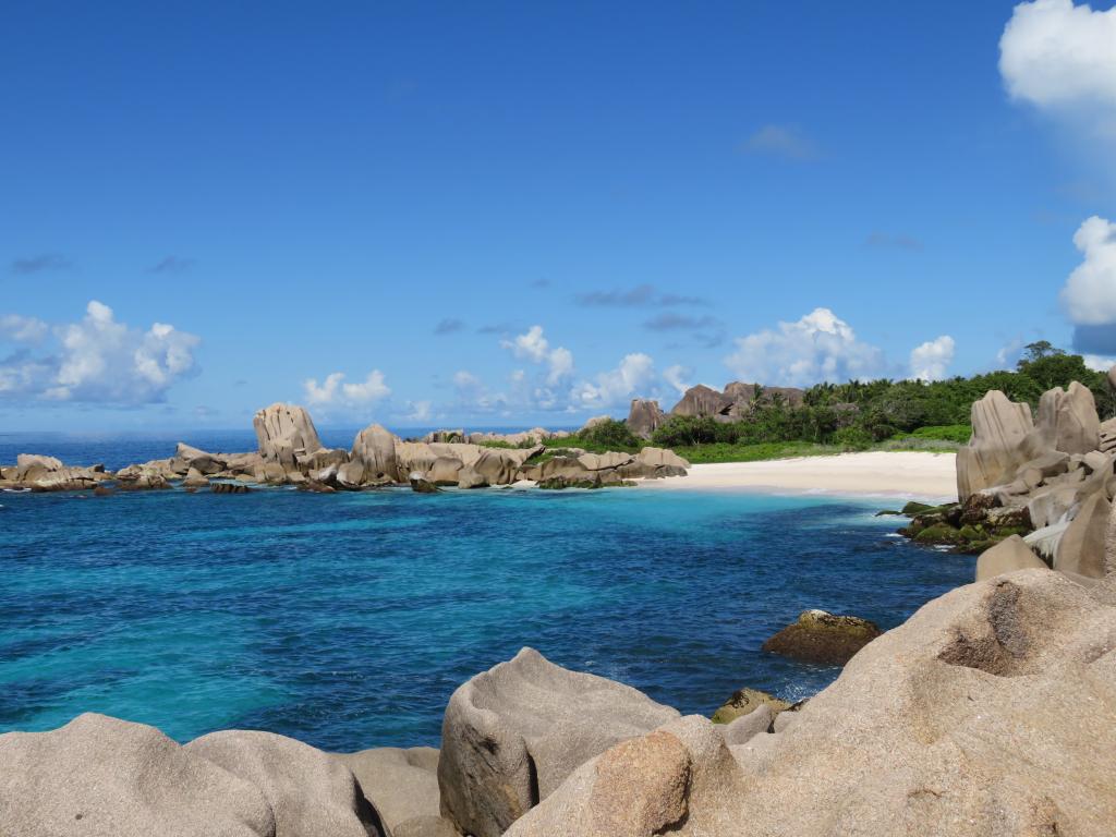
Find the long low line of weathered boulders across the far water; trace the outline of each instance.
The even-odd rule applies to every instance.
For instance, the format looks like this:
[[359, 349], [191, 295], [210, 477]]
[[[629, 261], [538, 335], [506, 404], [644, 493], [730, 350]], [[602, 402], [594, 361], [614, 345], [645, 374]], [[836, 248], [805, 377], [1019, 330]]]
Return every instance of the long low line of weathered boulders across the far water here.
[[0, 468], [0, 488], [71, 491], [109, 484], [119, 490], [181, 485], [235, 493], [252, 484], [290, 484], [324, 492], [411, 484], [416, 491], [435, 491], [522, 480], [551, 489], [600, 488], [635, 479], [684, 477], [690, 465], [660, 448], [598, 454], [571, 446], [548, 453], [539, 442], [569, 434], [541, 427], [508, 435], [439, 431], [412, 442], [372, 424], [356, 434], [350, 449], [326, 448], [310, 414], [290, 404], [259, 411], [252, 425], [256, 451], [211, 453], [180, 442], [173, 456], [116, 473], [103, 465], [69, 468], [51, 456], [20, 454], [15, 466]]

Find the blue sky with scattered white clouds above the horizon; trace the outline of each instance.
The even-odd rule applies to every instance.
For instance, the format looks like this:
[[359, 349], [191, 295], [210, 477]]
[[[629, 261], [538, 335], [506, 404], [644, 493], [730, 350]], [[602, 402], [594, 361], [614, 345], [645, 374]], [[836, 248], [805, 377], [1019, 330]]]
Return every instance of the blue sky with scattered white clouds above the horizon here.
[[1116, 356], [1110, 9], [7, 3], [0, 429]]

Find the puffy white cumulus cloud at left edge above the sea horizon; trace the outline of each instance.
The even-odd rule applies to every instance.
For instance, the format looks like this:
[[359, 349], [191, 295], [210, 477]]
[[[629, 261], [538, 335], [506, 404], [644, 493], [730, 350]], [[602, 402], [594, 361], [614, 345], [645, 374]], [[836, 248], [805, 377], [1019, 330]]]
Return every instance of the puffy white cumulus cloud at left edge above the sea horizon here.
[[[196, 372], [193, 353], [201, 343], [164, 323], [132, 328], [96, 300], [81, 321], [52, 329], [8, 315], [0, 340], [19, 345], [0, 360], [0, 397], [119, 405], [163, 401], [172, 384]], [[33, 350], [39, 344], [48, 354]]]

